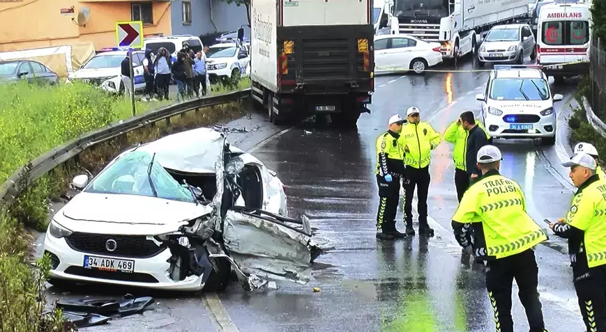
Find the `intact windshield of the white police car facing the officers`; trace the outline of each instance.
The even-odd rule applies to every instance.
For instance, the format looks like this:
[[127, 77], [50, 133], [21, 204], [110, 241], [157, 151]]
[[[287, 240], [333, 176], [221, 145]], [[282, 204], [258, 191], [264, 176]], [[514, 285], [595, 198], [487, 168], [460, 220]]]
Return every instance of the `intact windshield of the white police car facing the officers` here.
[[492, 100], [547, 100], [549, 86], [544, 79], [495, 79], [490, 89]]

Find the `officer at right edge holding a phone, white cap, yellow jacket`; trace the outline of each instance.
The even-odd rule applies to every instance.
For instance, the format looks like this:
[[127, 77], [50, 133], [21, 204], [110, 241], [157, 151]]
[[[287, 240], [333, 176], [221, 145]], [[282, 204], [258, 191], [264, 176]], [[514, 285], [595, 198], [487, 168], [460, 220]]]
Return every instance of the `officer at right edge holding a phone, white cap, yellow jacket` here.
[[[575, 149], [576, 150], [576, 149]], [[578, 188], [566, 219], [550, 223], [568, 239], [570, 265], [587, 331], [606, 331], [606, 180], [596, 175], [595, 159], [579, 153], [562, 164]]]

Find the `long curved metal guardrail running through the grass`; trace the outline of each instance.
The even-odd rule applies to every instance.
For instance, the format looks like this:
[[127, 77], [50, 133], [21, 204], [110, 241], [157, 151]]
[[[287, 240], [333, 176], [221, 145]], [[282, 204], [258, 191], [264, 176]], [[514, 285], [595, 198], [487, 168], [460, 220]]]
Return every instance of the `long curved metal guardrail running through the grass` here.
[[[92, 132], [82, 134], [77, 138], [64, 143], [36, 159], [33, 159], [28, 165], [29, 180], [36, 180], [48, 171], [51, 171], [56, 166], [63, 164], [69, 159], [79, 155], [80, 152], [90, 148], [93, 145], [102, 143], [109, 139], [114, 139], [118, 136], [131, 132], [132, 130], [144, 127], [153, 122], [165, 120], [173, 116], [178, 116], [181, 113], [201, 109], [209, 106], [227, 104], [242, 100], [250, 96], [250, 88], [238, 90], [232, 93], [224, 93], [222, 95], [213, 95], [194, 100], [188, 100], [179, 104], [169, 105], [149, 111], [148, 113], [134, 116], [128, 120], [121, 120], [107, 127], [93, 130]], [[26, 171], [27, 166], [22, 166], [13, 175], [0, 186], [0, 200], [10, 202], [15, 199], [19, 193], [17, 182], [19, 182], [22, 173]]]

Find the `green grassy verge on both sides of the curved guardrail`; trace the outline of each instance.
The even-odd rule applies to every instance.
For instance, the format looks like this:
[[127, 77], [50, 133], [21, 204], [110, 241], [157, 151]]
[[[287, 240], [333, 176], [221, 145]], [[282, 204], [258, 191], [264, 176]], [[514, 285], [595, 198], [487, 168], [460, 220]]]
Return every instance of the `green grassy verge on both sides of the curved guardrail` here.
[[[246, 80], [244, 80], [246, 81]], [[245, 86], [234, 84], [234, 88]], [[223, 88], [211, 94], [227, 92]], [[160, 103], [137, 102], [137, 113]], [[69, 331], [60, 313], [44, 315], [45, 280], [50, 260], [29, 264], [31, 237], [25, 228], [45, 230], [50, 200], [59, 198], [74, 175], [96, 174], [119, 152], [166, 134], [211, 125], [243, 116], [236, 103], [213, 106], [142, 127], [82, 152], [34, 182], [22, 180], [22, 193], [9, 206], [0, 206], [0, 331]], [[0, 182], [31, 159], [79, 134], [131, 115], [130, 101], [85, 84], [56, 87], [17, 84], [0, 86]]]

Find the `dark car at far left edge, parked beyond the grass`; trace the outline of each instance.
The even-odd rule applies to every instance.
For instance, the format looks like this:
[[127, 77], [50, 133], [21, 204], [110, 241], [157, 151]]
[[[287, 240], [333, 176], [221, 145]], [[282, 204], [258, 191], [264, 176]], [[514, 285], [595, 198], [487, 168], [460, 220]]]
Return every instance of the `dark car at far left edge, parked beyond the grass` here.
[[0, 83], [19, 81], [20, 79], [26, 79], [29, 83], [38, 81], [54, 85], [59, 81], [59, 75], [38, 61], [0, 61]]

